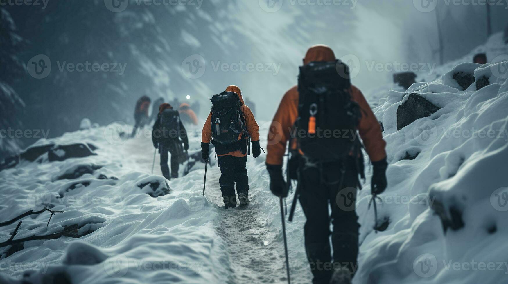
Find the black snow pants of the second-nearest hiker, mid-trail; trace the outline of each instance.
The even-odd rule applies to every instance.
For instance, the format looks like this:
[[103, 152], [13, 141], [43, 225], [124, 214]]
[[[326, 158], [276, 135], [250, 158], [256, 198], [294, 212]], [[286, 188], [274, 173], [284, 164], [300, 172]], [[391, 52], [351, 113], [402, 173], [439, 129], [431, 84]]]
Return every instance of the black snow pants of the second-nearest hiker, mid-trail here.
[[218, 157], [220, 167], [220, 191], [222, 192], [224, 203], [226, 207], [236, 206], [235, 183], [236, 191], [238, 194], [249, 192], [249, 177], [247, 176], [247, 156], [233, 157], [220, 156]]

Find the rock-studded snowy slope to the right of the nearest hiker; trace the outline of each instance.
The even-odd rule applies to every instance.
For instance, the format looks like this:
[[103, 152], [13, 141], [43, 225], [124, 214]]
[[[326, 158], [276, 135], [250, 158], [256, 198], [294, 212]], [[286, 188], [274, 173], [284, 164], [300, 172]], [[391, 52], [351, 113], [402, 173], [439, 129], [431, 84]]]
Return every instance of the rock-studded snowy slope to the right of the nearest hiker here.
[[[391, 164], [379, 220], [390, 225], [373, 232], [367, 186], [357, 203], [363, 244], [356, 283], [506, 280], [507, 67], [462, 63], [433, 82], [390, 91], [375, 109]], [[458, 72], [485, 76], [490, 85], [462, 91], [452, 79]], [[441, 109], [397, 131], [397, 109], [410, 93]], [[406, 153], [419, 155], [403, 160]]]

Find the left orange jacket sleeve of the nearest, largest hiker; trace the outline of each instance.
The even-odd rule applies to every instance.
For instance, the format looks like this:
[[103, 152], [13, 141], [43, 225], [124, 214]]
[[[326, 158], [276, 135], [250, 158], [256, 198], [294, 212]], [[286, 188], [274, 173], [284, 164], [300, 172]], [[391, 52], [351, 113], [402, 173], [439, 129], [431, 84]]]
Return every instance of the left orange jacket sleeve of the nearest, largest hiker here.
[[298, 87], [284, 94], [268, 130], [266, 163], [282, 165], [291, 129], [298, 118]]

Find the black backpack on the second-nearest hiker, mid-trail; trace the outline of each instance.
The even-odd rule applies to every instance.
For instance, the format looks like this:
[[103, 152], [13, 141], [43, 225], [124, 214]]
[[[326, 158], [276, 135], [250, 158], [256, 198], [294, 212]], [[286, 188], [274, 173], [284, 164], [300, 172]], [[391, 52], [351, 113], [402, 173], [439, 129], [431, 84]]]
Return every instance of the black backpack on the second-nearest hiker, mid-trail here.
[[242, 137], [246, 136], [242, 103], [238, 94], [235, 92], [222, 92], [214, 95], [211, 101], [213, 104], [211, 125], [214, 143], [234, 144], [238, 141], [240, 133], [244, 133]]

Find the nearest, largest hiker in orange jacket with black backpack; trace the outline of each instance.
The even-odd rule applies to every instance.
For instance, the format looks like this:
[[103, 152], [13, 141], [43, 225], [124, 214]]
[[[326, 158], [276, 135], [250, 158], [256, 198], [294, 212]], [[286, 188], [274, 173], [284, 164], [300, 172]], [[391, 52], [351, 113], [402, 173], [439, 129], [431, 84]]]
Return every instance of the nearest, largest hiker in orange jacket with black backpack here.
[[288, 195], [282, 161], [289, 142], [289, 175], [298, 179], [297, 194], [307, 218], [305, 248], [313, 283], [350, 283], [358, 263], [356, 189], [358, 175], [364, 174], [357, 131], [374, 165], [373, 194], [387, 187], [386, 143], [364, 96], [351, 85], [347, 66], [328, 46], [311, 47], [303, 65], [298, 86], [282, 97], [269, 128], [270, 190], [279, 197]]

